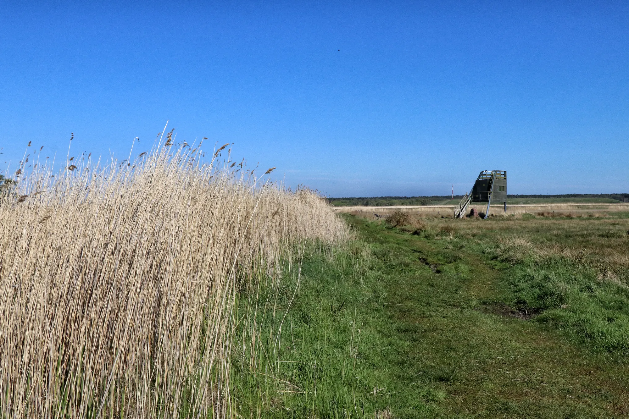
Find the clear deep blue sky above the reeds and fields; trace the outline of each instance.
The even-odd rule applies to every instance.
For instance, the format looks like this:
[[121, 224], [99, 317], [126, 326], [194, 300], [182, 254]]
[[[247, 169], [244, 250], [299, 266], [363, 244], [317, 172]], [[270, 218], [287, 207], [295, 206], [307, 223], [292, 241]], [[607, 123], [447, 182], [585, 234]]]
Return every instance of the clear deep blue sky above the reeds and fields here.
[[[0, 155], [166, 120], [328, 196], [629, 191], [629, 3], [3, 2]], [[29, 3], [29, 2], [26, 2]]]

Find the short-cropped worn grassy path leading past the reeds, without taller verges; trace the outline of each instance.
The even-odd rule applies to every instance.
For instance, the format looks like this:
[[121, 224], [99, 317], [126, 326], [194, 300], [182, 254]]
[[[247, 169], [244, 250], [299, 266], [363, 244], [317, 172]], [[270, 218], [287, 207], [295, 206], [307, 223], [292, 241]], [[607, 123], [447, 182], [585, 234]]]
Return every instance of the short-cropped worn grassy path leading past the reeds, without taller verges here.
[[353, 223], [381, 249], [418, 255], [410, 269], [381, 259], [388, 279], [387, 306], [399, 322], [398, 331], [412, 342], [399, 359], [400, 371], [406, 371], [401, 381], [438, 384], [447, 394], [438, 409], [444, 416], [629, 413], [626, 365], [588, 354], [543, 325], [501, 310], [501, 276], [508, 272], [489, 267], [465, 249], [443, 249], [438, 240], [361, 220]]

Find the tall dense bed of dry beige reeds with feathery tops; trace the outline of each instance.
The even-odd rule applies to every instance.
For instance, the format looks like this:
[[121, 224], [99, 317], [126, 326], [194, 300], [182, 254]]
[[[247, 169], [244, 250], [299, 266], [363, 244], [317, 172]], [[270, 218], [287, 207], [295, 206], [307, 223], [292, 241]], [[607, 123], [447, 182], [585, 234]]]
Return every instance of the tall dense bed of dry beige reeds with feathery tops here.
[[171, 141], [20, 173], [0, 198], [0, 417], [231, 416], [239, 289], [347, 237], [308, 189]]

